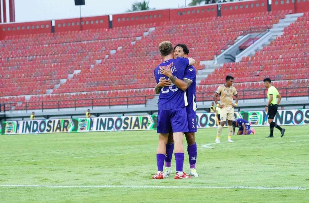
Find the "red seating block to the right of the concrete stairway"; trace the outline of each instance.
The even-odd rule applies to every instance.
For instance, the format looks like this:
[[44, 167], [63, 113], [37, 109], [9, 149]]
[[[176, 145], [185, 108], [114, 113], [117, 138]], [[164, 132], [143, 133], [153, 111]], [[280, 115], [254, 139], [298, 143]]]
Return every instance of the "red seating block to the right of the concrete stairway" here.
[[[235, 77], [237, 90], [243, 92], [249, 90], [248, 93], [243, 93], [244, 99], [265, 98], [264, 85], [261, 81], [265, 77], [270, 77], [277, 88], [283, 88], [281, 96], [302, 97], [299, 100], [308, 100], [309, 12], [296, 16], [298, 16], [297, 20], [290, 23], [288, 27], [284, 27], [282, 35], [255, 52], [254, 56], [243, 57], [236, 63], [225, 63], [201, 80], [199, 85], [203, 86], [200, 93], [206, 93], [204, 101], [205, 97], [206, 100], [211, 99], [212, 94], [207, 95], [207, 92], [215, 89], [219, 84], [217, 78], [228, 74]], [[252, 94], [251, 89], [256, 91]], [[200, 90], [200, 87], [197, 90]]]

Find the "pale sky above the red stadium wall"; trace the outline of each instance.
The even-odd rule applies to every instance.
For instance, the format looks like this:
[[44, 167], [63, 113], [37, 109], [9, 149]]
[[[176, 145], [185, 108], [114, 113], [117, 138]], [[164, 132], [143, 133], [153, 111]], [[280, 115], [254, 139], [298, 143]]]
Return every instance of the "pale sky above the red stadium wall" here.
[[[1, 0], [2, 2], [3, 0]], [[8, 1], [8, 0], [6, 0]], [[82, 17], [124, 13], [134, 2], [142, 0], [85, 0]], [[178, 8], [191, 0], [149, 0], [156, 9]], [[8, 5], [8, 3], [7, 3]], [[15, 0], [15, 22], [79, 18], [79, 6], [74, 0]]]

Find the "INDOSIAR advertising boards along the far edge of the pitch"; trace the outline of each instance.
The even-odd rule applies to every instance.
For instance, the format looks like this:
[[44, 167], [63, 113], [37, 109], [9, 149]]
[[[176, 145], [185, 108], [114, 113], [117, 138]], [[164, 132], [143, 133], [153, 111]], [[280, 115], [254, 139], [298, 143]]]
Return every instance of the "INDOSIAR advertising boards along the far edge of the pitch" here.
[[[252, 126], [267, 126], [265, 111], [240, 111], [235, 118], [248, 120]], [[197, 128], [217, 127], [215, 113], [197, 113]], [[275, 122], [279, 125], [308, 125], [309, 109], [278, 110]], [[114, 116], [95, 118], [64, 118], [0, 122], [0, 134], [40, 134], [61, 132], [155, 130], [157, 115]]]

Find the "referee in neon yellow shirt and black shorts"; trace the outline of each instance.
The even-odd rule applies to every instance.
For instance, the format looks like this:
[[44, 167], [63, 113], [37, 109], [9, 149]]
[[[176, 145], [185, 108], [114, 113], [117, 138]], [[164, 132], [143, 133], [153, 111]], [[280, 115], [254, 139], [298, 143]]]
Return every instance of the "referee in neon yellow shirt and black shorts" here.
[[[267, 90], [267, 98], [268, 102], [265, 107], [265, 112], [267, 112], [267, 118], [270, 128], [270, 135], [267, 138], [273, 138], [273, 127], [276, 127], [281, 132], [281, 137], [284, 135], [284, 131], [286, 129], [281, 128], [277, 125], [277, 123], [273, 122], [273, 119], [275, 118], [275, 115], [277, 114], [278, 105], [281, 101], [281, 96], [278, 92], [278, 90], [271, 84], [270, 78], [264, 79], [264, 85], [268, 89]], [[277, 102], [278, 97], [278, 102]]]

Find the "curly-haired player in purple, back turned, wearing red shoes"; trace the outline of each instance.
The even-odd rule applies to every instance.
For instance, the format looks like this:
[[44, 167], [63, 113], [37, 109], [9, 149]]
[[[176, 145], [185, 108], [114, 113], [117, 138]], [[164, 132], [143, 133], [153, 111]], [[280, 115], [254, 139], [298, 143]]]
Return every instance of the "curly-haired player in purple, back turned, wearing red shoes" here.
[[188, 132], [188, 120], [186, 107], [188, 101], [185, 92], [174, 84], [179, 84], [183, 81], [184, 73], [189, 65], [193, 65], [195, 60], [192, 58], [177, 58], [173, 57], [173, 45], [170, 41], [164, 41], [159, 44], [159, 51], [163, 58], [163, 63], [155, 68], [155, 80], [159, 83], [161, 77], [164, 75], [165, 69], [173, 73], [169, 78], [173, 84], [168, 87], [159, 89], [156, 87], [156, 92], [160, 93], [158, 101], [158, 126], [157, 133], [159, 133], [159, 144], [157, 148], [157, 167], [158, 171], [152, 176], [153, 179], [163, 178], [163, 165], [166, 155], [166, 144], [168, 134], [170, 131], [174, 133], [175, 143], [175, 161], [176, 161], [176, 175], [174, 179], [191, 178], [183, 172], [184, 164], [184, 147], [183, 135]]

